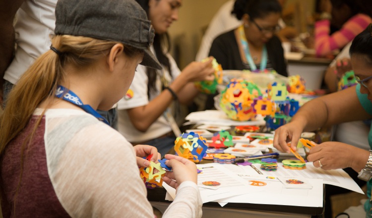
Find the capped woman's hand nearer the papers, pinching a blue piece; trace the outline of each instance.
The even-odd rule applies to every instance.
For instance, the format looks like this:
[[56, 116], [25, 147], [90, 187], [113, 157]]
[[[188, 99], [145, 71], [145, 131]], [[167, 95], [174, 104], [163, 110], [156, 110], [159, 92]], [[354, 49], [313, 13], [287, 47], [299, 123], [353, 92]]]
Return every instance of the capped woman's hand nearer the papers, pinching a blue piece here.
[[175, 189], [185, 181], [192, 181], [197, 184], [195, 163], [176, 155], [167, 154], [165, 158], [168, 159], [165, 163], [172, 167], [172, 171], [166, 171], [163, 181]]

